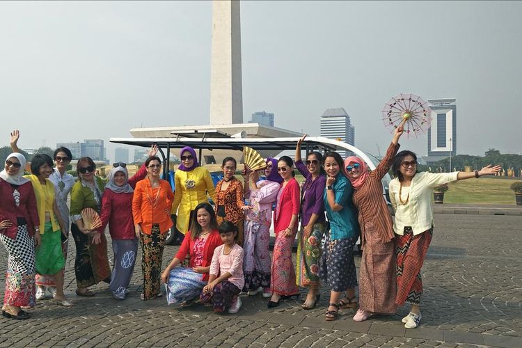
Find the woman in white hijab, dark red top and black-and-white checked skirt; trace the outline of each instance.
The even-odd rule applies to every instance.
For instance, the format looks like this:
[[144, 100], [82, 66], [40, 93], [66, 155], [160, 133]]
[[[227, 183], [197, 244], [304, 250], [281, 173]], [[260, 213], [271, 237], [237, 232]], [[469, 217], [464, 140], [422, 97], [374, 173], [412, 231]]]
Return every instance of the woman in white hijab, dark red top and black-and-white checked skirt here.
[[33, 185], [22, 176], [25, 165], [22, 154], [12, 153], [0, 172], [0, 241], [8, 253], [2, 315], [12, 319], [29, 319], [21, 307], [35, 305], [35, 247], [40, 244], [40, 219]]

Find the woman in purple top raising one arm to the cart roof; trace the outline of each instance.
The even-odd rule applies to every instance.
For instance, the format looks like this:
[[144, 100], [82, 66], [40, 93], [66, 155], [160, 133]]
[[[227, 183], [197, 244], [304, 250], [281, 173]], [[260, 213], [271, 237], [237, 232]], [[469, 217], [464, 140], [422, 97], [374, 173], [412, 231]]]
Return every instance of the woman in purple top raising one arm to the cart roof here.
[[326, 230], [323, 193], [326, 177], [323, 157], [319, 152], [310, 152], [306, 161], [301, 160], [301, 143], [306, 134], [299, 139], [295, 149], [295, 166], [306, 178], [301, 191], [301, 230], [297, 235], [297, 285], [308, 288], [306, 301], [301, 307], [312, 309], [319, 301], [319, 260], [321, 260], [321, 241]]

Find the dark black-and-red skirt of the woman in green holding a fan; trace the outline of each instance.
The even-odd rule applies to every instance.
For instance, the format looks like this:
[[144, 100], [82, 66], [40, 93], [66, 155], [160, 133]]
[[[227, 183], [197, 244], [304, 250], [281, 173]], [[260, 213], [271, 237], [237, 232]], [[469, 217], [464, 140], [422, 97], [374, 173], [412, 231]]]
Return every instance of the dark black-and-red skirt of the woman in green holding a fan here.
[[111, 267], [107, 258], [107, 239], [102, 233], [100, 244], [91, 244], [92, 237], [79, 230], [76, 223], [71, 225], [72, 237], [76, 244], [76, 259], [74, 260], [74, 274], [78, 287], [89, 287], [111, 280]]

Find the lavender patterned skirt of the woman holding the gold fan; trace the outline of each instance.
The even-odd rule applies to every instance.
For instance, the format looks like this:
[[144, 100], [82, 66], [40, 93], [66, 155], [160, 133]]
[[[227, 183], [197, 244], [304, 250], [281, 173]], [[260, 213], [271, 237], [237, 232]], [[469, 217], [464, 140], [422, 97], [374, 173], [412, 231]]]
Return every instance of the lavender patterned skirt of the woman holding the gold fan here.
[[270, 226], [245, 220], [243, 291], [270, 287]]

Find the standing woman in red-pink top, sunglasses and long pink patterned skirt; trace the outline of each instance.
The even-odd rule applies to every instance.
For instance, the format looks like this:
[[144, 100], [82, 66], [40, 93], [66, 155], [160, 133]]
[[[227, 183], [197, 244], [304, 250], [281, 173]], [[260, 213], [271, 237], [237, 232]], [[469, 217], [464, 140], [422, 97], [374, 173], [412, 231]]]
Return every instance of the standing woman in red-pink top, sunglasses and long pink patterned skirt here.
[[297, 232], [299, 214], [299, 183], [294, 178], [294, 161], [283, 156], [277, 163], [277, 171], [283, 177], [283, 183], [277, 196], [274, 210], [274, 231], [276, 244], [272, 260], [272, 296], [268, 308], [279, 306], [281, 298], [299, 296], [295, 283], [295, 268], [292, 262], [292, 246]]

